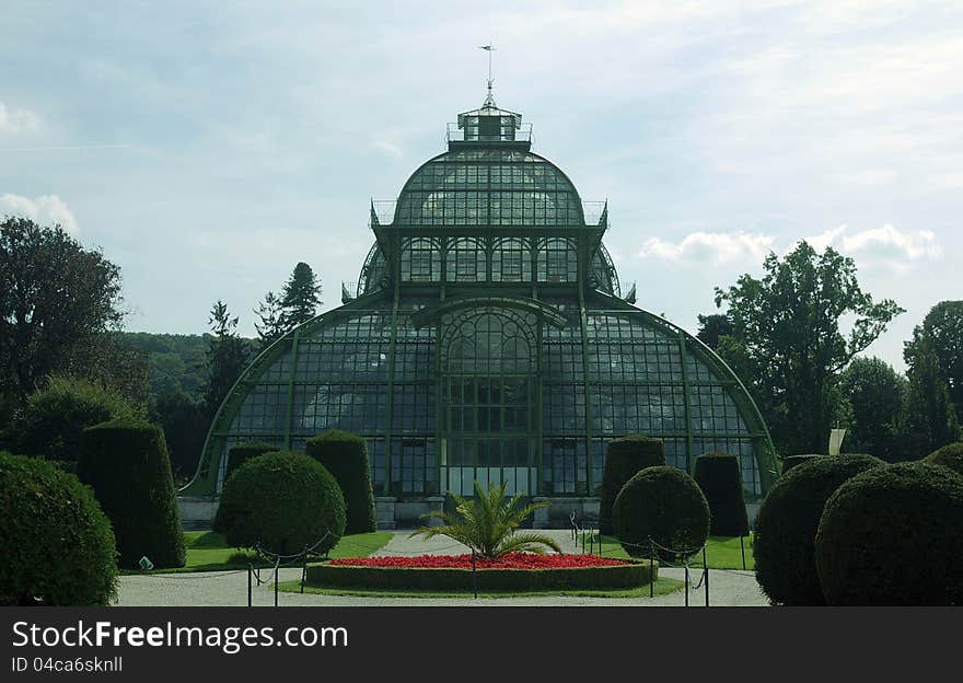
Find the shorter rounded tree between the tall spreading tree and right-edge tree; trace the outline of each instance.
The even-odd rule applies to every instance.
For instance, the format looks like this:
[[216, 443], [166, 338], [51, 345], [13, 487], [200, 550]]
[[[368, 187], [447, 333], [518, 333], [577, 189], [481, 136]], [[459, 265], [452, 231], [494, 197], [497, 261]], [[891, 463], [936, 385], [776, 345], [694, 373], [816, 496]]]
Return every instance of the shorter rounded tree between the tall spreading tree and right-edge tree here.
[[848, 429], [846, 450], [869, 453], [880, 460], [903, 460], [900, 419], [906, 380], [880, 358], [854, 358], [840, 378], [840, 420]]

